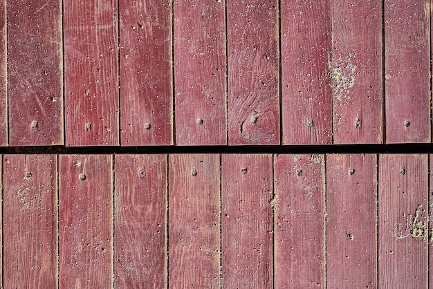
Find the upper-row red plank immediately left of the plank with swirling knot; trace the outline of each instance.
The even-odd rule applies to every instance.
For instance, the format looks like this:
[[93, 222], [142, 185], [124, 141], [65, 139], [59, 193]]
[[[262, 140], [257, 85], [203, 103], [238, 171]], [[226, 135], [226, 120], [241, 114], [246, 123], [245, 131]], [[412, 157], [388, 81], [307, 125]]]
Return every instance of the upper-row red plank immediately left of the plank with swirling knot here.
[[225, 0], [174, 1], [176, 144], [226, 145]]

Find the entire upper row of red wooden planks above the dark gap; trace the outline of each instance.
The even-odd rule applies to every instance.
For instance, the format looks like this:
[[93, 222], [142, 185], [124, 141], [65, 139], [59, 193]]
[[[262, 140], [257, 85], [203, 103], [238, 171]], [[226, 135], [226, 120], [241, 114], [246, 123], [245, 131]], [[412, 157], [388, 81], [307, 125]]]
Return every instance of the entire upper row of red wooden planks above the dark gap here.
[[430, 17], [425, 0], [1, 0], [0, 145], [430, 143]]

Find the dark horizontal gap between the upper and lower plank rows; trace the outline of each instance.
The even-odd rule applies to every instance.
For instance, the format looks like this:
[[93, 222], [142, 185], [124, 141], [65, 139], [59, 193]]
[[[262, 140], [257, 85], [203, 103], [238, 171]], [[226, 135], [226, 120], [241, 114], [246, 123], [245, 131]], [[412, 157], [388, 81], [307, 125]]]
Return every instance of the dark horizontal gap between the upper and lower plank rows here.
[[433, 144], [396, 145], [251, 145], [158, 147], [0, 147], [1, 154], [116, 154], [116, 153], [433, 153]]

